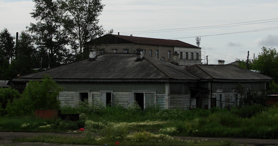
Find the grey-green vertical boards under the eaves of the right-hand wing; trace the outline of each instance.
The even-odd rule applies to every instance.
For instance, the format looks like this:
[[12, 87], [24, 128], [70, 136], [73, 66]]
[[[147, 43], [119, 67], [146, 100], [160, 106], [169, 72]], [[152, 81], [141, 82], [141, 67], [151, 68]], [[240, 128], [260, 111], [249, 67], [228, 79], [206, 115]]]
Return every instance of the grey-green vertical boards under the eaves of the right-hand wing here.
[[[213, 82], [212, 93], [215, 93], [216, 89], [223, 89], [223, 93], [232, 93], [237, 84], [238, 82]], [[242, 82], [241, 85], [244, 88], [251, 88], [254, 91], [265, 89], [265, 82]]]

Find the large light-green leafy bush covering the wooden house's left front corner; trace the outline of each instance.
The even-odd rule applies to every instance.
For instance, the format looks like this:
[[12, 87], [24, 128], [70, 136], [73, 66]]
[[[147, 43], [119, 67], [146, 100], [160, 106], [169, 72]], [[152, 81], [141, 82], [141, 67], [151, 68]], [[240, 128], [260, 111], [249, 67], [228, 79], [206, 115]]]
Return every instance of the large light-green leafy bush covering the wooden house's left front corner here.
[[36, 109], [59, 109], [60, 101], [57, 97], [61, 91], [63, 87], [59, 87], [49, 75], [44, 74], [41, 82], [30, 81], [22, 97], [8, 103], [7, 112], [9, 115], [28, 115]]

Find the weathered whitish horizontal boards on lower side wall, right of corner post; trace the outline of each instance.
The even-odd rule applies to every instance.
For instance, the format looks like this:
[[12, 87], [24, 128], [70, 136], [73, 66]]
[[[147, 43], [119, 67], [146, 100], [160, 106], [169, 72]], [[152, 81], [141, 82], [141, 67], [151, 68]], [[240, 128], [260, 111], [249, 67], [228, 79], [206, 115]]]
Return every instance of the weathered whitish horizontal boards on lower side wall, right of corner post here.
[[190, 94], [189, 95], [170, 95], [170, 109], [181, 108], [188, 109], [190, 105]]

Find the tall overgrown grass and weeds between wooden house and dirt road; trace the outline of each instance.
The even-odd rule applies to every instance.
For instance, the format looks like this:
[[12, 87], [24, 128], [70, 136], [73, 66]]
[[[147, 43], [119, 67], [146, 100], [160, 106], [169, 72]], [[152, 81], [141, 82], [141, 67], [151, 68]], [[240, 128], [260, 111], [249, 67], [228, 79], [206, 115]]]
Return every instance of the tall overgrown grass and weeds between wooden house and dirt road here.
[[[0, 131], [67, 131], [85, 127], [91, 122], [91, 132], [111, 135], [127, 133], [125, 131], [147, 131], [156, 134], [197, 137], [242, 137], [242, 138], [278, 138], [278, 108], [265, 108], [259, 105], [244, 108], [227, 109], [211, 108], [210, 110], [160, 110], [149, 107], [141, 110], [136, 103], [128, 108], [120, 104], [105, 107], [101, 102], [80, 103], [79, 107], [65, 106], [61, 113], [79, 113], [78, 122], [42, 120], [29, 117], [2, 117]], [[246, 113], [248, 112], [248, 113]], [[245, 113], [245, 114], [244, 114]], [[116, 131], [113, 131], [113, 127]], [[126, 126], [125, 127], [119, 127]], [[118, 129], [117, 129], [118, 128]], [[121, 129], [125, 129], [122, 131]], [[118, 131], [117, 131], [118, 130]], [[87, 131], [89, 131], [87, 129]], [[110, 133], [109, 133], [110, 132]], [[125, 135], [126, 136], [126, 135]], [[117, 137], [117, 136], [116, 136]], [[123, 139], [124, 136], [119, 136]]]

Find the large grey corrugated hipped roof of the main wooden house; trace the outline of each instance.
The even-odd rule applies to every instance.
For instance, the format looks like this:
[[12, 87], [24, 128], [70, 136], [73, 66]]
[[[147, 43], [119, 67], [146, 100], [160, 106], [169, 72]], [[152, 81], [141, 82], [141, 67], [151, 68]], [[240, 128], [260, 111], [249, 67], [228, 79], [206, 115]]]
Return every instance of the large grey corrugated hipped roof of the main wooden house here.
[[19, 78], [53, 79], [178, 79], [196, 80], [186, 69], [148, 56], [137, 61], [134, 53], [107, 53]]

